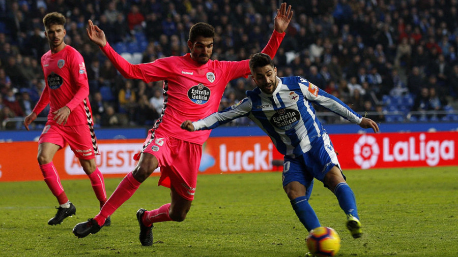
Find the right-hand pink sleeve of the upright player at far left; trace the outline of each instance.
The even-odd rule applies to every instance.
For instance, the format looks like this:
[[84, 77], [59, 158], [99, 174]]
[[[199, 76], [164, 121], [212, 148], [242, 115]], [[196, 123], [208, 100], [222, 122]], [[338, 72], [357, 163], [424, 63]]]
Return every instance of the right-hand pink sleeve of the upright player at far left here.
[[73, 83], [73, 86], [77, 89], [73, 98], [66, 104], [66, 106], [70, 108], [70, 111], [73, 111], [85, 98], [88, 97], [89, 82], [82, 55], [75, 51], [69, 57], [70, 76], [72, 78], [70, 83]]

